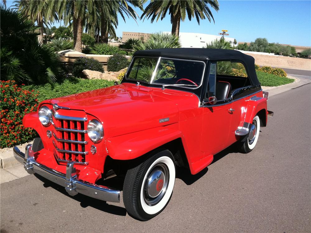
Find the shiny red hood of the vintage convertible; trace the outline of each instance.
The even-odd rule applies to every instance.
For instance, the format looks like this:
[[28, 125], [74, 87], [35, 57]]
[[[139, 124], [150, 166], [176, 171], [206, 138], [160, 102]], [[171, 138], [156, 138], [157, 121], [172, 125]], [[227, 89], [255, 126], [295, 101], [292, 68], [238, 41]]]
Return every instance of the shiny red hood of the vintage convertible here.
[[[124, 83], [45, 100], [41, 104], [83, 110], [103, 122], [105, 138], [110, 138], [178, 122], [178, 102], [184, 98], [194, 98], [197, 104], [197, 97], [191, 93]], [[169, 121], [160, 123], [163, 118]]]

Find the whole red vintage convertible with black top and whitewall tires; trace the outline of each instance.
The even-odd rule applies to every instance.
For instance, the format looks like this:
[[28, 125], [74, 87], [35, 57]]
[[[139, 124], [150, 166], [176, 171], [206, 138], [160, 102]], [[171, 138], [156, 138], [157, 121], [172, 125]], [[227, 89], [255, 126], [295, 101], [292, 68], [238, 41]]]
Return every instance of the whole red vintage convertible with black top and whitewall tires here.
[[[135, 52], [120, 85], [45, 100], [26, 114], [39, 138], [17, 160], [63, 187], [123, 202], [148, 220], [173, 192], [175, 169], [196, 174], [236, 143], [255, 147], [267, 124], [267, 93], [254, 59], [234, 50], [156, 49]], [[121, 187], [104, 185], [121, 177]]]

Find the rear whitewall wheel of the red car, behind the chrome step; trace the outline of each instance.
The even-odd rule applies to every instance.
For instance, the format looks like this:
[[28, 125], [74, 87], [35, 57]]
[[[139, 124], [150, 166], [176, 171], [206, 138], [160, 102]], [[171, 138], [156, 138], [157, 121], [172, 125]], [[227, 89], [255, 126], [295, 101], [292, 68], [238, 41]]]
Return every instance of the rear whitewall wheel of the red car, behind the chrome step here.
[[238, 143], [238, 149], [241, 153], [249, 153], [255, 148], [258, 141], [260, 131], [260, 119], [258, 116], [255, 116], [251, 125], [251, 129], [247, 135], [247, 138], [240, 143]]

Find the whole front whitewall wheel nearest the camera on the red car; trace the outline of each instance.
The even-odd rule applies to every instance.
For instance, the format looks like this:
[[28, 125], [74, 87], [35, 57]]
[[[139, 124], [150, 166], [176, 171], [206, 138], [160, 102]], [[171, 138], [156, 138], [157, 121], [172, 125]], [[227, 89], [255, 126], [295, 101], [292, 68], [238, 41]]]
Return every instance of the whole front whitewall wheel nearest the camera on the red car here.
[[159, 214], [169, 202], [175, 183], [172, 153], [164, 150], [129, 169], [123, 185], [123, 202], [128, 213], [142, 221]]

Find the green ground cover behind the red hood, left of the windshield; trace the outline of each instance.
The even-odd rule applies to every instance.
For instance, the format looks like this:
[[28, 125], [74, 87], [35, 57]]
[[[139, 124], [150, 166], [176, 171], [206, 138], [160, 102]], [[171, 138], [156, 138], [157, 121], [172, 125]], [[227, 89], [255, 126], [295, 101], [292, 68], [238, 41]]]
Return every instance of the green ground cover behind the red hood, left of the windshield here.
[[29, 85], [24, 88], [27, 90], [34, 89], [39, 91], [38, 100], [48, 100], [65, 95], [76, 94], [84, 91], [100, 89], [113, 86], [114, 81], [107, 80], [89, 80], [80, 78], [67, 78], [60, 83], [45, 84], [45, 85]]

